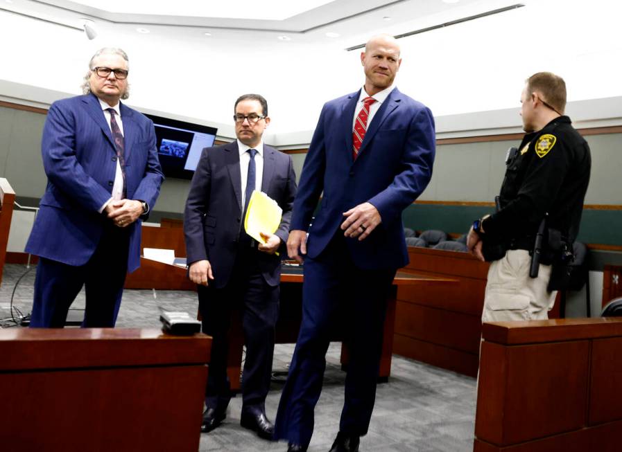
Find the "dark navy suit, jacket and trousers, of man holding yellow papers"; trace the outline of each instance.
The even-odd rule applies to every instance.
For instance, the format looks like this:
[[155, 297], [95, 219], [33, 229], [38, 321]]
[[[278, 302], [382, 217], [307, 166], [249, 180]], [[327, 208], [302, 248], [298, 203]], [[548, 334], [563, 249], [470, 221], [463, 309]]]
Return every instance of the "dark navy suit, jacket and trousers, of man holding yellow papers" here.
[[[283, 209], [275, 234], [285, 244], [296, 179], [291, 157], [266, 145], [261, 191]], [[279, 312], [281, 261], [241, 237], [241, 194], [237, 141], [203, 150], [186, 202], [184, 235], [188, 263], [209, 260], [214, 274], [208, 287], [198, 286], [198, 298], [203, 332], [213, 337], [205, 403], [220, 412], [230, 400], [226, 370], [232, 310], [241, 310], [245, 335], [243, 406], [260, 409], [270, 387]]]

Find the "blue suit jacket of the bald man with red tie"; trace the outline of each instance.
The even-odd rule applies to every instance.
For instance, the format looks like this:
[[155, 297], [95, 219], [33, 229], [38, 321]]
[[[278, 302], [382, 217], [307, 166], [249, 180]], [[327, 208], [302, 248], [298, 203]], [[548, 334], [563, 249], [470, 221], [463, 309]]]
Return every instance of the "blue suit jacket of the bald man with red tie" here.
[[352, 122], [360, 92], [324, 105], [304, 160], [291, 229], [309, 231], [307, 253], [317, 257], [344, 221], [343, 213], [370, 202], [382, 222], [361, 242], [347, 239], [349, 252], [363, 269], [397, 269], [408, 264], [401, 213], [432, 176], [434, 118], [420, 102], [393, 89], [368, 126], [353, 161]]

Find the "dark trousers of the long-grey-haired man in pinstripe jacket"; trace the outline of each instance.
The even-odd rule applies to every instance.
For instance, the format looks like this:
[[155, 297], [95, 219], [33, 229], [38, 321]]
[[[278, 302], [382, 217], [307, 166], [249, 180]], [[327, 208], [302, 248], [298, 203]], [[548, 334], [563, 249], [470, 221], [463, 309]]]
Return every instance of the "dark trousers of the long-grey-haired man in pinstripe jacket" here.
[[31, 327], [64, 327], [69, 307], [83, 286], [86, 306], [82, 327], [114, 327], [128, 273], [129, 247], [130, 229], [110, 223], [84, 265], [67, 265], [40, 257]]

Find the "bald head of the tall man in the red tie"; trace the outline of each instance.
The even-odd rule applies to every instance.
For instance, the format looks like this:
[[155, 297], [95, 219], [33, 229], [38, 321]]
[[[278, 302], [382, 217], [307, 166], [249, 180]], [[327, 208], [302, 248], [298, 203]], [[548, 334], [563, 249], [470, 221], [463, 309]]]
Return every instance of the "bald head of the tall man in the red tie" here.
[[368, 96], [387, 89], [393, 84], [399, 70], [399, 44], [391, 35], [376, 35], [365, 44], [361, 52], [361, 64], [365, 69], [365, 91]]

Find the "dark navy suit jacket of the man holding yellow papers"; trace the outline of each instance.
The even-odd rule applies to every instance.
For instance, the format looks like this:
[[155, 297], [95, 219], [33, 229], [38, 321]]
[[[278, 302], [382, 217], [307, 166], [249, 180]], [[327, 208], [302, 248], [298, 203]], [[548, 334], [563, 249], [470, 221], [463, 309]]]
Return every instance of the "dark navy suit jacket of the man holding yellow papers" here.
[[[242, 222], [242, 183], [237, 141], [218, 147], [206, 147], [192, 178], [186, 210], [184, 234], [188, 264], [209, 260], [214, 287], [221, 288], [230, 279], [238, 250]], [[264, 145], [264, 175], [261, 191], [283, 209], [275, 233], [284, 245], [289, 234], [291, 209], [296, 195], [296, 176], [291, 156]], [[279, 284], [280, 258], [258, 253], [259, 266], [270, 286]], [[210, 283], [211, 285], [211, 283]]]

